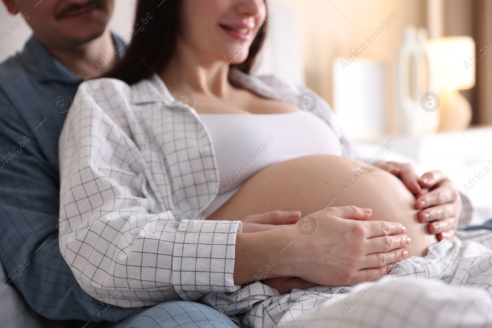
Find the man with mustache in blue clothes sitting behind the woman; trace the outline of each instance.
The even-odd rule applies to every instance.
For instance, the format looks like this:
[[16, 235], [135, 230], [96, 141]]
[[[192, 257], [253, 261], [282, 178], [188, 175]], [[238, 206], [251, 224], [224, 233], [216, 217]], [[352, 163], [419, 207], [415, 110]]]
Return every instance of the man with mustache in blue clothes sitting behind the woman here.
[[[114, 0], [3, 2], [10, 13], [23, 14], [17, 22], [27, 22], [34, 36], [22, 53], [0, 64], [0, 260], [8, 275], [0, 288], [14, 285], [42, 317], [72, 320], [67, 327], [123, 320], [111, 327], [204, 328], [211, 321], [235, 327], [199, 303], [121, 308], [90, 297], [77, 284], [58, 244], [58, 138], [77, 87], [123, 56], [125, 42], [106, 24]], [[53, 325], [44, 318], [39, 325]]]

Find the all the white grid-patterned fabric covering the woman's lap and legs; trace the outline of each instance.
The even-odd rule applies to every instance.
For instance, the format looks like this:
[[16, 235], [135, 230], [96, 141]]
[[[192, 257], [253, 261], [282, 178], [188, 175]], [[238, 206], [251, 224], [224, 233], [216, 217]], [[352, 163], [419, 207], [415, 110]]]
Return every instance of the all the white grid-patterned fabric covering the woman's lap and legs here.
[[492, 232], [457, 236], [453, 243], [431, 245], [426, 257], [400, 261], [371, 283], [279, 295], [256, 282], [201, 301], [254, 328], [329, 328], [334, 322], [332, 328], [492, 327]]

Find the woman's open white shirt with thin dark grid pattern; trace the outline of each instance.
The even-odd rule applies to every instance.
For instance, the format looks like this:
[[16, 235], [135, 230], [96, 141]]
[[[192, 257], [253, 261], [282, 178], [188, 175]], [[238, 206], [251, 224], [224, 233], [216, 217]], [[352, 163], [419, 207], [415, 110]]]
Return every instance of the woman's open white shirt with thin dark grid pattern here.
[[[236, 85], [296, 103], [305, 89], [234, 70]], [[204, 221], [219, 190], [212, 140], [156, 75], [78, 89], [60, 137], [62, 255], [82, 288], [133, 307], [234, 292], [240, 221]], [[314, 112], [341, 131], [324, 101]], [[351, 150], [339, 134], [345, 155]]]

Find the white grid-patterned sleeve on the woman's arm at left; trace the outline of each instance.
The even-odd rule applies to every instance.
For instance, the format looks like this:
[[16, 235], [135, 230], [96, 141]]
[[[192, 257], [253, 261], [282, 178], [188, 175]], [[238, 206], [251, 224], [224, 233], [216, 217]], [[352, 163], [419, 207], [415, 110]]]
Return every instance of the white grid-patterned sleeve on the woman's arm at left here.
[[[167, 166], [177, 163], [163, 158], [152, 136], [133, 140], [129, 127], [112, 119], [124, 121], [131, 108], [124, 102], [115, 108], [110, 117], [81, 87], [60, 137], [67, 230], [60, 247], [80, 286], [123, 307], [239, 289], [233, 268], [241, 222], [193, 220], [164, 204], [170, 197], [152, 175], [169, 179]], [[151, 172], [152, 160], [162, 172]]]

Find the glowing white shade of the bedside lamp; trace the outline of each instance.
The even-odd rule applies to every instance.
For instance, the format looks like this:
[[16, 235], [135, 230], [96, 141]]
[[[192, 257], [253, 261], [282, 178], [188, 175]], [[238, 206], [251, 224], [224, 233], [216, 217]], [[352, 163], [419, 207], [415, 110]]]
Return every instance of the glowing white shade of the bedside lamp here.
[[475, 41], [470, 36], [437, 37], [427, 40], [431, 88], [471, 89], [475, 85]]

